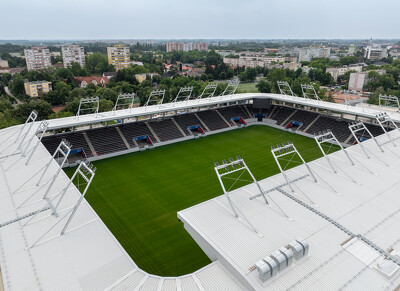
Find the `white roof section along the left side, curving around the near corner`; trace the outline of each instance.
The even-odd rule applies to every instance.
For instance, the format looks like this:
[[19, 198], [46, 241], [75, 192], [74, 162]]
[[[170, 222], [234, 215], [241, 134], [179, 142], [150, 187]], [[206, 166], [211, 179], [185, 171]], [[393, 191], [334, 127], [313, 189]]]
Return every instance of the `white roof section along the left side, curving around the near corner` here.
[[[70, 180], [61, 171], [43, 199], [60, 166], [42, 144], [26, 165], [29, 154], [18, 154], [19, 141], [14, 142], [19, 128], [0, 131], [0, 287], [2, 279], [5, 290], [242, 290], [220, 262], [176, 278], [142, 271], [86, 200], [60, 235], [81, 193], [73, 184], [66, 188]], [[58, 216], [52, 215], [65, 188]]]

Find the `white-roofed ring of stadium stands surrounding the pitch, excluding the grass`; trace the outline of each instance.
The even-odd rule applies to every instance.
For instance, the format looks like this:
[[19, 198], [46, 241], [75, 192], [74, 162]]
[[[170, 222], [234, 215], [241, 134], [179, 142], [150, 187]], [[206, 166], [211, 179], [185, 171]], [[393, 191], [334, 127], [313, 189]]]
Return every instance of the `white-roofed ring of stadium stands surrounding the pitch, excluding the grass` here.
[[[267, 102], [255, 106], [260, 99]], [[379, 114], [392, 123], [383, 126]], [[35, 119], [32, 113], [26, 124], [0, 131], [5, 290], [394, 290], [400, 285], [398, 112], [248, 93], [46, 123]], [[363, 130], [353, 129], [354, 123]], [[192, 274], [164, 278], [138, 268], [84, 199], [96, 170], [84, 159], [252, 124], [309, 137], [331, 133], [343, 149], [232, 191], [231, 200], [226, 194], [180, 211], [185, 229], [213, 261]], [[278, 150], [283, 155], [293, 148]], [[244, 161], [232, 163], [237, 169]], [[60, 171], [71, 165], [79, 165], [76, 175], [86, 181], [84, 190]]]

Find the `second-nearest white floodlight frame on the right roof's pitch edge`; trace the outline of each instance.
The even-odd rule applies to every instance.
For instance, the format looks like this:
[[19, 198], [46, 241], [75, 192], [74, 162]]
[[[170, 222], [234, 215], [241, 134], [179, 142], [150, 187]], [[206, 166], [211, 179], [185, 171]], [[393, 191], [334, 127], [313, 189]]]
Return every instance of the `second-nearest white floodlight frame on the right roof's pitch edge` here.
[[[288, 144], [283, 144], [283, 145], [277, 145], [277, 147], [275, 146], [271, 146], [271, 153], [274, 156], [275, 162], [278, 165], [278, 168], [280, 170], [280, 172], [282, 173], [283, 177], [286, 180], [286, 183], [288, 184], [290, 190], [292, 192], [294, 192], [294, 189], [292, 187], [292, 183], [293, 181], [289, 179], [289, 177], [286, 175], [286, 168], [283, 169], [282, 165], [279, 161], [280, 158], [282, 157], [286, 157], [288, 155], [292, 155], [292, 159], [295, 155], [297, 155], [300, 160], [302, 161], [303, 165], [306, 166], [308, 173], [310, 174], [310, 176], [312, 177], [312, 179], [314, 180], [314, 182], [317, 182], [317, 179], [314, 176], [314, 173], [311, 171], [310, 166], [306, 163], [306, 161], [303, 159], [303, 157], [300, 155], [299, 151], [297, 150], [297, 148], [295, 147], [294, 144], [292, 144], [291, 141], [287, 142]], [[290, 161], [289, 161], [290, 162]], [[288, 163], [289, 164], [289, 163]], [[287, 164], [287, 165], [288, 165]]]

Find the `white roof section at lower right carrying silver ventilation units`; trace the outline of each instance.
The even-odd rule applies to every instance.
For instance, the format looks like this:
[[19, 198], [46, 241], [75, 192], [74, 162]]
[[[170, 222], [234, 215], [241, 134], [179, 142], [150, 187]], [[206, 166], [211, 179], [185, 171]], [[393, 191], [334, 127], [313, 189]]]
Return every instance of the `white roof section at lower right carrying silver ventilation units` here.
[[[391, 135], [400, 138], [398, 131]], [[377, 140], [383, 144], [388, 137], [382, 135]], [[378, 264], [384, 259], [379, 251], [388, 253], [391, 249], [400, 262], [396, 256], [396, 252], [400, 254], [400, 143], [386, 143], [384, 152], [372, 139], [362, 144], [370, 158], [360, 145], [346, 149], [355, 166], [343, 151], [332, 153], [329, 157], [337, 174], [325, 158], [314, 160], [309, 166], [317, 173], [318, 182], [311, 177], [300, 179], [294, 182], [295, 192], [285, 185], [282, 174], [261, 181], [264, 190], [285, 185], [279, 187], [283, 193], [268, 193], [270, 206], [261, 197], [249, 199], [259, 193], [254, 184], [232, 191], [232, 200], [259, 233], [243, 217], [233, 215], [225, 196], [180, 211], [178, 217], [193, 237], [202, 238], [199, 242], [208, 255], [232, 266], [249, 289], [393, 290], [400, 285], [400, 264], [390, 262], [393, 275]], [[307, 173], [304, 165], [287, 171], [292, 181]], [[261, 281], [255, 263], [298, 237], [308, 242], [308, 256], [294, 261], [276, 277]]]

